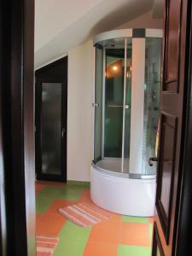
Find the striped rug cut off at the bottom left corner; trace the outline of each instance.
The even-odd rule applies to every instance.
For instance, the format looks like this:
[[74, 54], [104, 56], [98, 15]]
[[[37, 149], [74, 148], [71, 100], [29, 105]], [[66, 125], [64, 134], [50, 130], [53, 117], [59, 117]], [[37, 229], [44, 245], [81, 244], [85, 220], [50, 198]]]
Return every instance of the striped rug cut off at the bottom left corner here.
[[59, 238], [49, 236], [36, 236], [37, 256], [53, 255], [58, 242]]

